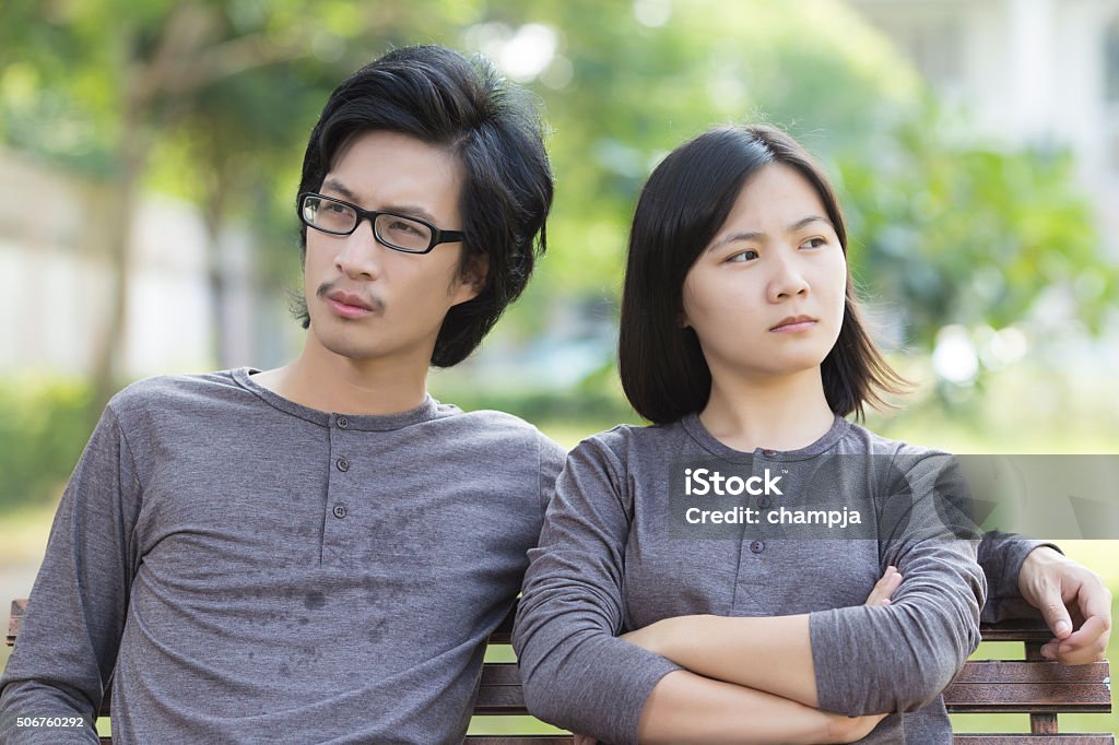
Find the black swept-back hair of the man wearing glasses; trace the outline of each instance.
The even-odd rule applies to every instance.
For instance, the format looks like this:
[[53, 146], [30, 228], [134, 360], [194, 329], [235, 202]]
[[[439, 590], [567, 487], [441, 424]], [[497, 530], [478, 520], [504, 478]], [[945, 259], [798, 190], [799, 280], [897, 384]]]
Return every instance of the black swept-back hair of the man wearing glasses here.
[[[330, 94], [307, 143], [297, 194], [319, 191], [340, 149], [378, 130], [445, 148], [462, 164], [459, 207], [467, 239], [459, 272], [464, 276], [479, 255], [487, 271], [478, 296], [452, 307], [439, 330], [431, 364], [451, 367], [520, 295], [547, 247], [553, 178], [543, 125], [528, 94], [485, 59], [439, 46], [394, 49]], [[300, 248], [305, 253], [305, 227]], [[309, 328], [305, 299], [297, 313]]]

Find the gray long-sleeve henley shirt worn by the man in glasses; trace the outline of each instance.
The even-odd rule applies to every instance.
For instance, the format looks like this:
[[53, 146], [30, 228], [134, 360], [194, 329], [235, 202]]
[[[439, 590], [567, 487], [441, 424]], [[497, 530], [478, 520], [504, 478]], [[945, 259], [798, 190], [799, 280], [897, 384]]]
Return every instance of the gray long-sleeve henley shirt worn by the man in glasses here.
[[496, 412], [288, 402], [239, 369], [130, 386], [66, 489], [0, 742], [460, 741], [564, 452]]

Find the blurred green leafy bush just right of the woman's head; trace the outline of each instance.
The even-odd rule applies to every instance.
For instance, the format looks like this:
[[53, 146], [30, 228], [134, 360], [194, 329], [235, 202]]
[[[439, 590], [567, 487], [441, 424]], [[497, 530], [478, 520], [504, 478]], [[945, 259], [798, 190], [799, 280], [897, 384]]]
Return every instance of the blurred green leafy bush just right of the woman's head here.
[[1060, 293], [1098, 330], [1119, 273], [1070, 154], [949, 141], [931, 103], [912, 116], [892, 145], [844, 153], [837, 173], [853, 268], [905, 338], [929, 349], [950, 323], [1028, 324], [1038, 299]]

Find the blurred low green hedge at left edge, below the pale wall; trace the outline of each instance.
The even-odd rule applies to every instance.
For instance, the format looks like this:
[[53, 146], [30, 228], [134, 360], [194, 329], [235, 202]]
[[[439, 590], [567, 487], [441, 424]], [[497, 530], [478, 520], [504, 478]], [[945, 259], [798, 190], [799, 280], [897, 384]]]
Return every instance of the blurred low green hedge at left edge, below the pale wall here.
[[0, 380], [0, 512], [57, 496], [90, 437], [88, 383]]

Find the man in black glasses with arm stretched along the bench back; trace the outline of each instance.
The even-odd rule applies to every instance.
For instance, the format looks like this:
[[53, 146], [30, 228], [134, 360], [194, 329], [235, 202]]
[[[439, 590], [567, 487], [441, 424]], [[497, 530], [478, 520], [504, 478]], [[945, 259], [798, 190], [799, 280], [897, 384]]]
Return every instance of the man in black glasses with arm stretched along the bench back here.
[[[563, 451], [515, 417], [436, 404], [426, 370], [477, 347], [537, 235], [543, 252], [539, 124], [485, 64], [398, 49], [332, 93], [299, 194], [302, 353], [109, 405], [0, 678], [0, 742], [95, 742], [114, 669], [117, 743], [466, 732]], [[1035, 546], [989, 546], [1006, 597]], [[1096, 593], [1066, 559], [1027, 574], [1035, 604]], [[86, 724], [18, 724], [44, 715]]]

